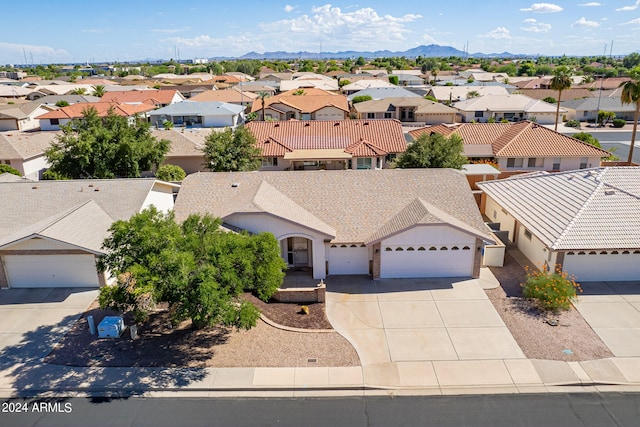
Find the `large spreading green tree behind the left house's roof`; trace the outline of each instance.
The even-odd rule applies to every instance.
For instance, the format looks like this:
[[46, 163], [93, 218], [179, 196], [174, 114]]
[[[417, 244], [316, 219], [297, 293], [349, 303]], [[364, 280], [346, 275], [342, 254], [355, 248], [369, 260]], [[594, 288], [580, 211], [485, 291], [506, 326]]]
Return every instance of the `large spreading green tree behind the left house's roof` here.
[[170, 146], [151, 134], [148, 123], [129, 124], [113, 111], [99, 117], [94, 108], [61, 129], [45, 151], [48, 176], [56, 179], [139, 177], [162, 163]]

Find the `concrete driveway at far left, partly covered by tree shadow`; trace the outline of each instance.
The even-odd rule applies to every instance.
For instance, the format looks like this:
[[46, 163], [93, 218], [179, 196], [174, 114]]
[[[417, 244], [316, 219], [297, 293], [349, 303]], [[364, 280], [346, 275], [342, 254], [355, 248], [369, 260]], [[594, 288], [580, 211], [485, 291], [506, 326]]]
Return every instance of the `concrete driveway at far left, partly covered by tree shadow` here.
[[1, 289], [0, 365], [46, 356], [97, 296], [96, 289]]

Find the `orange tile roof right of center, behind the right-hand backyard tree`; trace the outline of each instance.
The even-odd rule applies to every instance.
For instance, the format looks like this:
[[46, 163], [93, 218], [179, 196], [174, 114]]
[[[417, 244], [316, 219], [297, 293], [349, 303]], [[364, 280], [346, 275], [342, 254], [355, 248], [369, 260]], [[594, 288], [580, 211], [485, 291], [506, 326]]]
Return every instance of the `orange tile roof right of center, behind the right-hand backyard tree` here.
[[544, 126], [524, 120], [517, 123], [463, 123], [456, 126], [437, 125], [412, 130], [417, 139], [423, 133], [462, 137], [465, 155], [477, 153], [473, 146], [491, 147], [495, 157], [607, 157], [607, 151]]

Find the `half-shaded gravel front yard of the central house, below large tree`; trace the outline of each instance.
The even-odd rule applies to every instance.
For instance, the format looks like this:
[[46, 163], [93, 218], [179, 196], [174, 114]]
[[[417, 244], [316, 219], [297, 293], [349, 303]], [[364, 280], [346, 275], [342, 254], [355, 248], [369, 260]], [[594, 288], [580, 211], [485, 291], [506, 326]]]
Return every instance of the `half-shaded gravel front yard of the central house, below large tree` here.
[[[278, 303], [278, 307], [270, 307], [270, 304], [265, 303], [262, 305], [271, 314], [283, 311], [276, 316], [278, 319], [272, 319], [277, 323], [283, 322], [297, 328], [331, 328], [324, 314], [324, 304], [311, 305], [309, 315], [297, 314], [300, 310], [297, 304]], [[224, 327], [193, 330], [188, 321], [171, 327], [168, 312], [160, 311], [139, 326], [138, 338], [135, 340], [131, 340], [129, 329], [120, 338], [98, 339], [90, 334], [87, 316], [93, 316], [97, 325], [105, 316], [116, 314], [101, 310], [97, 302], [94, 302], [45, 358], [45, 362], [101, 367], [360, 365], [353, 346], [337, 332], [289, 332], [271, 327], [261, 320], [249, 331]], [[125, 320], [127, 324], [131, 324], [130, 319]]]

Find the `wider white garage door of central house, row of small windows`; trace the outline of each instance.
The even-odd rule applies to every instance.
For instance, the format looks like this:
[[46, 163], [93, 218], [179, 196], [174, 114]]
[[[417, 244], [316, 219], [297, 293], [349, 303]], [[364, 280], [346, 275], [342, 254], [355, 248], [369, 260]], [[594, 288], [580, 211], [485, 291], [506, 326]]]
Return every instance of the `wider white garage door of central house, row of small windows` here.
[[469, 246], [387, 246], [380, 257], [381, 278], [468, 277], [472, 272]]

